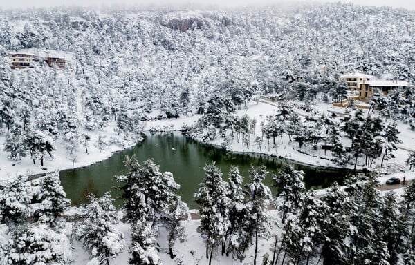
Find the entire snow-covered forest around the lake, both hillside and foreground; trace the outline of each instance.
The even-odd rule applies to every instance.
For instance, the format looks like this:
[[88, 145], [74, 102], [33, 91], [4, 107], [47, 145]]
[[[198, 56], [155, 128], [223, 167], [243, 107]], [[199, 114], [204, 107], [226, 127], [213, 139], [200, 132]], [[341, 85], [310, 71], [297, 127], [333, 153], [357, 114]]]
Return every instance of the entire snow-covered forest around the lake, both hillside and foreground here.
[[[412, 170], [414, 32], [414, 12], [341, 3], [1, 10], [0, 264], [415, 264], [415, 184], [380, 193], [378, 173], [316, 195], [286, 166], [271, 195], [266, 168], [244, 186], [237, 168], [225, 182], [209, 164], [194, 195], [200, 220], [183, 219], [179, 185], [151, 159], [132, 157], [116, 177], [121, 211], [109, 193], [70, 208], [57, 172], [17, 176], [24, 164], [98, 161], [145, 128], [177, 126], [230, 150], [355, 169], [382, 170], [404, 144], [397, 161]], [[28, 49], [66, 66], [12, 69], [9, 52]], [[375, 91], [368, 110], [349, 100], [341, 115], [326, 111], [347, 99], [338, 77], [350, 72], [409, 86]]]

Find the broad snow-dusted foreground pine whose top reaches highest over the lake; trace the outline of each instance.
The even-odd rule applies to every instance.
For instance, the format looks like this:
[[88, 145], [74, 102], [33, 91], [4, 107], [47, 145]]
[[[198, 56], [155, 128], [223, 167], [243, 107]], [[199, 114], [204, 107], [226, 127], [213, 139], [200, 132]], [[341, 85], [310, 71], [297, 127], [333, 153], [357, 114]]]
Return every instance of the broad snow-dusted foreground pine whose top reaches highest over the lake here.
[[161, 173], [153, 159], [140, 164], [136, 157], [127, 157], [125, 164], [129, 173], [116, 177], [124, 191], [121, 195], [124, 219], [131, 225], [148, 223], [154, 233], [158, 226], [165, 226], [169, 230], [169, 254], [173, 257], [173, 244], [184, 233], [179, 220], [188, 211], [187, 205], [176, 194], [180, 185], [174, 181], [172, 173]]

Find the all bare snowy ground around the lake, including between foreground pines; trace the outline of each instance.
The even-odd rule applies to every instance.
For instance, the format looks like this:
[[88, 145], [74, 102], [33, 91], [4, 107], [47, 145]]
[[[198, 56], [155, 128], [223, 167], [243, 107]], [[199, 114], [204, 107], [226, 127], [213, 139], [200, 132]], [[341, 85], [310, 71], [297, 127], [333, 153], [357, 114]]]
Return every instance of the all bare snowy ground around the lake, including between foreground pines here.
[[[317, 106], [318, 110], [320, 111], [335, 111], [335, 112], [342, 112], [344, 109], [342, 108], [335, 108], [330, 105], [321, 104]], [[257, 119], [257, 124], [260, 124], [260, 121], [262, 119], [265, 119], [266, 115], [272, 114], [276, 110], [276, 106], [274, 104], [269, 104], [265, 101], [260, 101], [259, 104], [256, 104], [255, 102], [252, 102], [248, 104], [247, 108], [245, 110], [239, 110], [238, 115], [244, 115], [248, 114], [250, 118]], [[295, 111], [299, 112], [300, 115], [307, 115], [304, 110], [295, 109]], [[194, 121], [199, 119], [199, 115], [194, 115], [192, 117], [183, 117], [180, 119], [172, 119], [172, 120], [162, 120], [162, 121], [146, 121], [145, 124], [142, 124], [144, 130], [180, 130], [183, 126], [183, 124], [193, 124]], [[16, 177], [19, 174], [23, 173], [44, 173], [46, 171], [51, 170], [63, 170], [65, 168], [72, 168], [73, 167], [73, 157], [76, 157], [75, 159], [75, 167], [79, 166], [86, 166], [89, 164], [93, 164], [97, 161], [101, 161], [103, 159], [107, 159], [111, 155], [111, 153], [122, 150], [122, 146], [109, 146], [106, 150], [100, 151], [96, 146], [93, 145], [93, 143], [98, 139], [99, 135], [105, 135], [107, 139], [111, 137], [111, 135], [115, 135], [113, 128], [115, 128], [116, 124], [110, 124], [110, 126], [107, 127], [107, 129], [104, 132], [91, 134], [91, 144], [89, 146], [89, 153], [86, 153], [84, 148], [80, 146], [79, 150], [77, 150], [77, 153], [73, 155], [72, 157], [67, 154], [67, 151], [64, 148], [64, 144], [62, 141], [57, 142], [57, 150], [53, 152], [53, 156], [55, 159], [49, 160], [45, 162], [44, 168], [47, 168], [47, 170], [42, 170], [42, 167], [39, 164], [33, 165], [33, 162], [28, 158], [24, 158], [21, 161], [10, 161], [7, 159], [7, 153], [5, 153], [3, 150], [0, 150], [0, 179], [11, 179], [13, 177]], [[402, 139], [403, 144], [401, 146], [405, 146], [405, 148], [409, 148], [412, 150], [415, 149], [414, 146], [414, 133], [407, 128], [405, 124], [399, 124], [399, 129], [402, 132], [400, 134], [400, 139]], [[259, 126], [257, 126], [257, 135], [260, 135]], [[0, 137], [0, 145], [3, 144], [4, 137]], [[283, 143], [281, 141], [277, 141], [277, 146], [270, 148], [268, 150], [268, 147], [265, 145], [262, 146], [262, 153], [268, 153], [271, 155], [278, 155], [281, 157], [285, 157], [287, 159], [293, 159], [295, 161], [302, 162], [304, 164], [311, 164], [315, 166], [335, 166], [331, 161], [317, 158], [317, 157], [311, 157], [309, 155], [305, 155], [302, 153], [297, 152], [293, 149], [293, 146], [291, 146], [291, 143], [288, 141], [288, 137], [283, 137]], [[211, 144], [221, 144], [219, 141], [213, 141]], [[230, 145], [231, 150], [237, 151], [237, 152], [246, 152], [246, 148], [243, 148], [241, 146], [241, 143], [237, 143], [234, 141]], [[251, 143], [251, 146], [249, 148], [250, 152], [259, 152], [259, 147]], [[385, 183], [386, 179], [389, 177], [399, 177], [400, 179], [403, 179], [405, 176], [405, 179], [407, 181], [411, 179], [415, 179], [415, 172], [411, 172], [408, 170], [408, 168], [405, 166], [405, 159], [407, 157], [408, 151], [398, 149], [396, 152], [396, 158], [393, 159], [393, 161], [389, 161], [391, 164], [391, 167], [388, 169], [385, 167], [383, 171], [385, 173], [388, 173], [388, 170], [391, 172], [389, 174], [385, 174], [382, 177], [380, 177], [378, 180], [380, 183]], [[15, 164], [13, 166], [13, 164]], [[396, 166], [400, 165], [400, 166]], [[396, 168], [403, 168], [405, 169], [405, 172], [395, 172]], [[398, 194], [403, 193], [403, 188], [398, 188], [394, 190], [394, 192]], [[317, 194], [324, 193], [324, 190], [319, 190]], [[382, 192], [387, 193], [387, 191]], [[270, 210], [269, 215], [271, 218], [275, 217], [277, 215], [277, 212], [275, 210]], [[160, 257], [163, 259], [163, 264], [166, 265], [175, 265], [175, 264], [207, 264], [208, 259], [205, 257], [205, 243], [203, 237], [197, 232], [197, 227], [200, 225], [199, 220], [187, 220], [181, 222], [183, 226], [185, 226], [185, 229], [187, 230], [187, 237], [183, 242], [176, 242], [174, 246], [174, 252], [176, 253], [175, 259], [170, 259], [168, 253], [167, 253], [167, 246], [165, 246], [165, 239], [163, 239], [163, 233], [160, 233], [160, 237], [158, 238], [158, 244], [160, 244]], [[128, 246], [131, 244], [131, 230], [130, 227], [127, 224], [120, 223], [118, 225], [118, 228], [124, 233], [125, 239], [126, 239], [126, 248], [124, 249], [124, 252], [121, 253], [116, 259], [112, 259], [110, 261], [110, 264], [127, 264], [128, 263]], [[68, 227], [68, 231], [71, 230], [71, 227]], [[279, 234], [279, 228], [277, 226], [274, 226], [272, 228], [272, 234]], [[269, 237], [272, 238], [272, 237]], [[257, 262], [260, 263], [262, 256], [265, 253], [269, 253], [272, 255], [273, 253], [273, 240], [272, 239], [260, 239], [259, 240], [259, 253], [257, 255]], [[82, 244], [80, 242], [74, 242], [73, 244], [73, 263], [75, 265], [83, 265], [87, 264], [89, 262], [89, 253], [84, 250]], [[254, 248], [251, 246], [246, 255], [246, 259], [244, 259], [243, 262], [235, 261], [232, 259], [232, 257], [226, 257], [221, 256], [220, 253], [215, 255], [213, 259], [214, 264], [223, 264], [223, 265], [231, 265], [231, 264], [252, 264], [254, 257]]]

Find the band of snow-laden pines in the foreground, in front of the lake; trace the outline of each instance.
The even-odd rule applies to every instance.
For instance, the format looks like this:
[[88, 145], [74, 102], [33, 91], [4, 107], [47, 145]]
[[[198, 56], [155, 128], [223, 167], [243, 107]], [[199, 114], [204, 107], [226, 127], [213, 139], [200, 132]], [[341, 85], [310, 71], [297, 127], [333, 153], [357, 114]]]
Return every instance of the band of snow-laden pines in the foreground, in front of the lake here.
[[[140, 163], [130, 157], [125, 163], [129, 173], [116, 177], [124, 191], [121, 215], [109, 193], [91, 195], [89, 204], [66, 213], [70, 202], [57, 173], [3, 186], [0, 264], [69, 264], [75, 242], [89, 251], [90, 265], [109, 264], [126, 248], [116, 226], [120, 219], [131, 226], [129, 264], [163, 264], [159, 251], [169, 253], [174, 264], [188, 264], [176, 257], [179, 241], [190, 231], [180, 222], [189, 210], [175, 193], [180, 186], [172, 173], [161, 173], [151, 159]], [[206, 260], [200, 262], [216, 264], [214, 257], [220, 255], [263, 265], [415, 262], [415, 182], [404, 188], [403, 197], [381, 195], [376, 174], [359, 173], [350, 175], [345, 186], [333, 184], [316, 196], [306, 190], [304, 173], [287, 165], [273, 175], [278, 192], [271, 194], [263, 183], [264, 166], [252, 168], [245, 185], [236, 167], [228, 181], [214, 163], [204, 169], [194, 194], [201, 216], [198, 232], [205, 241]], [[270, 215], [270, 205], [277, 215]], [[160, 230], [167, 242], [158, 241]], [[273, 242], [272, 247], [258, 250], [259, 239]], [[246, 256], [249, 249], [253, 259]]]

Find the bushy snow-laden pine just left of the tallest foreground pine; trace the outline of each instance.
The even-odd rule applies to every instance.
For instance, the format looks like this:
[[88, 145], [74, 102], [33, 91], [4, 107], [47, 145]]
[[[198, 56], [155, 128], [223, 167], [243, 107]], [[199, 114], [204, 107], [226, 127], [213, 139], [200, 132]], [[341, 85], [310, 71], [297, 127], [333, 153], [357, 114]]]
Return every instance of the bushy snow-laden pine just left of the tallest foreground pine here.
[[98, 259], [100, 264], [109, 265], [109, 260], [124, 250], [124, 234], [116, 227], [116, 209], [109, 193], [98, 199], [91, 196], [89, 200], [76, 233], [91, 251], [91, 257]]

